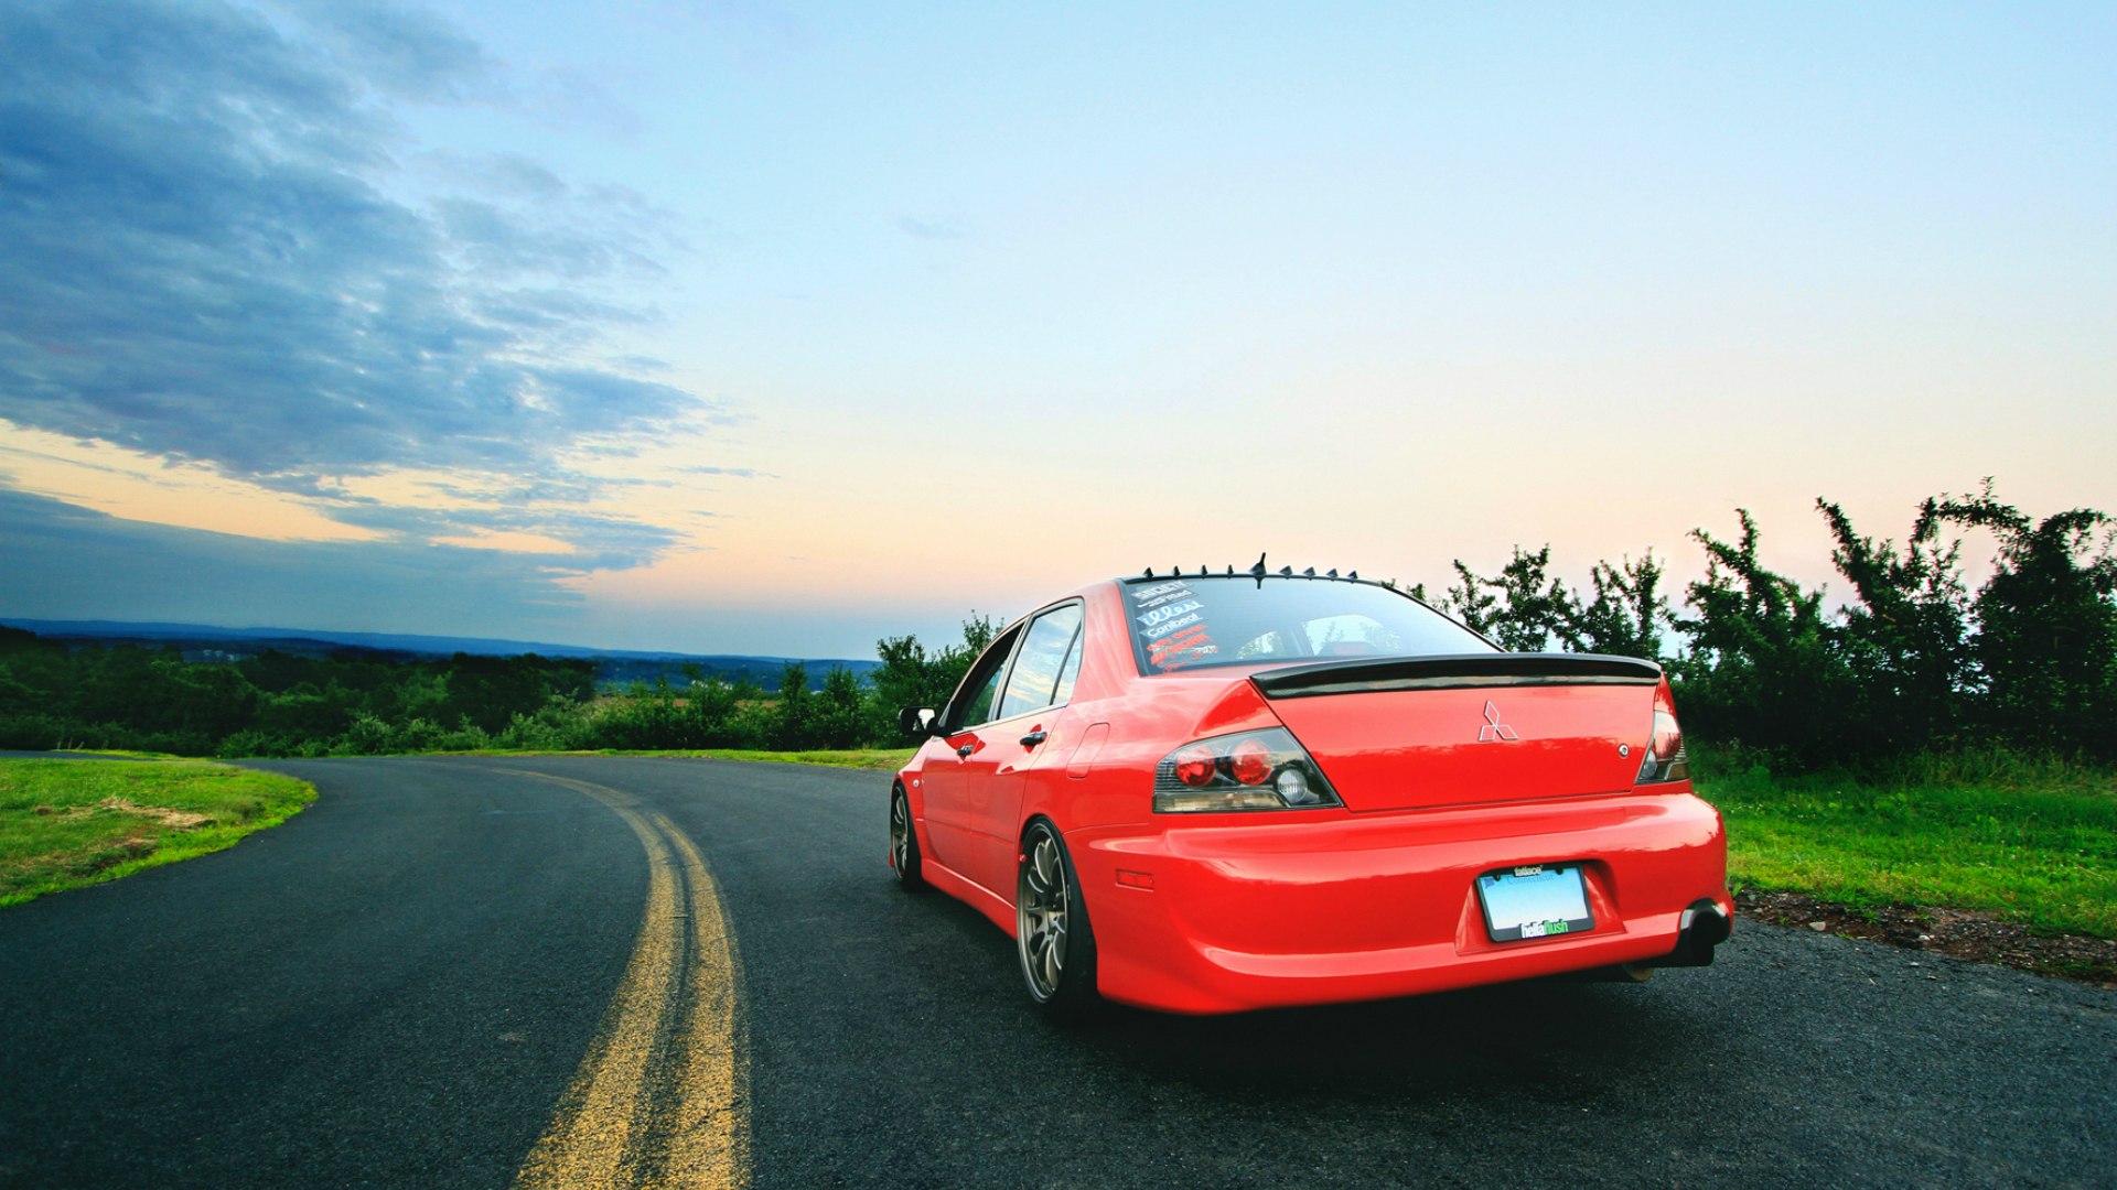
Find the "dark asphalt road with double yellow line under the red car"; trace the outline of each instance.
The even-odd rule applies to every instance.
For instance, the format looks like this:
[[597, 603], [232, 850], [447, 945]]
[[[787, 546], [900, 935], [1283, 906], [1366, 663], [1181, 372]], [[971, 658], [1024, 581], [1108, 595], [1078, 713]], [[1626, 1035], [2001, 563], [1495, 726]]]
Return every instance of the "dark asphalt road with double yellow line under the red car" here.
[[0, 1186], [2117, 1186], [2113, 991], [1744, 921], [1645, 987], [1058, 1031], [893, 887], [887, 775], [271, 767], [315, 807], [0, 910]]

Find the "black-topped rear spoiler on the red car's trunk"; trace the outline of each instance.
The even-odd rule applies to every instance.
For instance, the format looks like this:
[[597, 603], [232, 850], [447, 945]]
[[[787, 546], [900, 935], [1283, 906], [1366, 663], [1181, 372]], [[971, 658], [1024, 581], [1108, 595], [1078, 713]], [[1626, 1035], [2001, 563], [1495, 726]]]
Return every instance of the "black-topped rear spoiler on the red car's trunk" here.
[[1461, 690], [1467, 686], [1653, 686], [1662, 667], [1600, 652], [1452, 652], [1446, 656], [1349, 656], [1251, 673], [1266, 699]]

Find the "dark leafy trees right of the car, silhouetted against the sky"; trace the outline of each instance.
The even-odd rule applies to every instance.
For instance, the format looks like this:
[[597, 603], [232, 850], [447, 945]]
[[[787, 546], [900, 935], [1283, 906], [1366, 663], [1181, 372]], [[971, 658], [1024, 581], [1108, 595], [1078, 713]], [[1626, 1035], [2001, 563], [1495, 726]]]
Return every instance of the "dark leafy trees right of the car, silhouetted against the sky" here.
[[[1998, 745], [2117, 758], [2117, 553], [2092, 508], [2034, 519], [1975, 495], [1935, 495], [1903, 546], [1831, 529], [1842, 606], [1757, 559], [1757, 523], [1696, 529], [1706, 576], [1681, 606], [1651, 555], [1596, 563], [1586, 591], [1552, 578], [1550, 546], [1514, 551], [1495, 576], [1461, 561], [1435, 606], [1512, 650], [1564, 648], [1662, 661], [1696, 739], [1793, 767], [1859, 767], [1914, 752]], [[1998, 546], [1975, 591], [1960, 531]], [[1425, 597], [1425, 591], [1416, 591]]]

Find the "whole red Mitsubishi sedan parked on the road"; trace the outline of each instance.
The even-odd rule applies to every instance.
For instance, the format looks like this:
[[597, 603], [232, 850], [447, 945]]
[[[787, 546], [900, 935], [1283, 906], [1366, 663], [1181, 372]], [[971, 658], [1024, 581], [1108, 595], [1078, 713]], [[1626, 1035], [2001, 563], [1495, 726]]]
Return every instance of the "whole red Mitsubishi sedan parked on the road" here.
[[1054, 1016], [1643, 978], [1732, 923], [1658, 665], [1503, 652], [1357, 576], [1097, 582], [904, 724], [898, 881], [1010, 932]]

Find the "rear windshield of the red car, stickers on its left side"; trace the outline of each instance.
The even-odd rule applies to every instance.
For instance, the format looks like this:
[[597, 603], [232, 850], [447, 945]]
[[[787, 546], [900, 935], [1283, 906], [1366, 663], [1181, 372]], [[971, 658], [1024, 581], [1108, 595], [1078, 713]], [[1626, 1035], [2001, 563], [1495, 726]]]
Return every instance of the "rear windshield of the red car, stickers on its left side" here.
[[1211, 665], [1497, 652], [1410, 595], [1327, 578], [1198, 576], [1124, 582], [1141, 673]]

